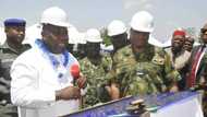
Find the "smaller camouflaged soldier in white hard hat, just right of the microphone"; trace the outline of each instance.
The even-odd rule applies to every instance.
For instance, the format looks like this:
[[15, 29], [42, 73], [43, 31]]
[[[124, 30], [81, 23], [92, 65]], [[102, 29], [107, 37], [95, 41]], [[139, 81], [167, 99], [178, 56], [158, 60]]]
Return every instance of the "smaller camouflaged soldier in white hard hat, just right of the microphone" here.
[[[88, 82], [84, 107], [110, 101], [105, 87], [107, 81], [106, 74], [112, 65], [110, 57], [100, 55], [100, 43], [102, 38], [100, 37], [99, 31], [96, 28], [88, 30], [86, 33], [86, 57], [80, 61], [81, 70]], [[99, 87], [99, 90], [97, 90], [97, 87]]]

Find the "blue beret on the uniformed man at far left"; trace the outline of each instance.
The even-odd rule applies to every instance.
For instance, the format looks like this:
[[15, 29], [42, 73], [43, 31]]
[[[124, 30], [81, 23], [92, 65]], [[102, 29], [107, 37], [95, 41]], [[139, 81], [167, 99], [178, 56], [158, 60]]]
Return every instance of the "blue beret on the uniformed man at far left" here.
[[23, 19], [7, 19], [4, 21], [4, 26], [25, 26], [26, 21]]

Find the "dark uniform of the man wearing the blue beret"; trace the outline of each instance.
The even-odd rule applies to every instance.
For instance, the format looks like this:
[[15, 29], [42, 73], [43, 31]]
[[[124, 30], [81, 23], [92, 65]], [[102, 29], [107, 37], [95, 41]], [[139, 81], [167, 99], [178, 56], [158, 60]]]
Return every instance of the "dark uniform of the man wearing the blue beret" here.
[[16, 107], [10, 101], [10, 67], [14, 59], [28, 48], [29, 46], [25, 45], [20, 50], [14, 50], [7, 43], [0, 46], [0, 117], [17, 117]]

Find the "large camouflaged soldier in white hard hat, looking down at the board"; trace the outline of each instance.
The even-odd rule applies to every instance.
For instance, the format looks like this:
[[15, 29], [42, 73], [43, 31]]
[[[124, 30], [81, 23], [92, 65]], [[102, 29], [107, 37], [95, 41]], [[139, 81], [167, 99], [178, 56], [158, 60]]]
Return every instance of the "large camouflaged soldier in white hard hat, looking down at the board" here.
[[181, 78], [172, 68], [170, 57], [147, 43], [154, 31], [153, 24], [150, 13], [137, 12], [131, 21], [131, 45], [114, 55], [112, 82], [117, 84], [120, 97], [176, 91], [176, 81]]

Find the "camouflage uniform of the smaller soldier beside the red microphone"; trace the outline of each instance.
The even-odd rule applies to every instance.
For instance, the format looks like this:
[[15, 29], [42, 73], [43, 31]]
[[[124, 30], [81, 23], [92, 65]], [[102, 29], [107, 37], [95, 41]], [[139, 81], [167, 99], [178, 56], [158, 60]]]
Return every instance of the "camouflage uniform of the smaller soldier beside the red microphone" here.
[[106, 74], [111, 69], [112, 60], [109, 56], [104, 56], [100, 59], [96, 59], [95, 62], [93, 63], [87, 57], [80, 61], [81, 71], [87, 78], [88, 84], [88, 90], [84, 98], [84, 107], [109, 101], [109, 96], [105, 95], [106, 90], [101, 87], [105, 89], [104, 85], [107, 84]]

